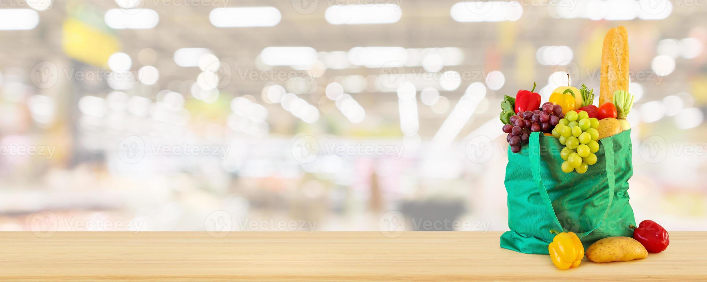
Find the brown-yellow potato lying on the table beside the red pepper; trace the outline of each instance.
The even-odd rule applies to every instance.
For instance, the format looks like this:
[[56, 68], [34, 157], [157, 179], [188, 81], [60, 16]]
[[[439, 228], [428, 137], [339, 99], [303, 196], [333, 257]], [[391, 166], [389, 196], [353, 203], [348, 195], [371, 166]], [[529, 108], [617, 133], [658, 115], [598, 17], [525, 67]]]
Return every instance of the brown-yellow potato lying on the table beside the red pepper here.
[[627, 262], [645, 259], [648, 251], [631, 237], [609, 237], [590, 245], [586, 255], [592, 262]]

